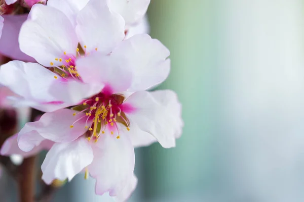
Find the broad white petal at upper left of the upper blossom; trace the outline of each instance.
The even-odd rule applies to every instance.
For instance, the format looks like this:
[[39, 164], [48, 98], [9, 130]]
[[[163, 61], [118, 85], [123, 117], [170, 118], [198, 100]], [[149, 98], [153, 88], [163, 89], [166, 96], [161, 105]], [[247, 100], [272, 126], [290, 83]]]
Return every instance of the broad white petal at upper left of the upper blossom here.
[[75, 54], [78, 38], [69, 19], [61, 11], [41, 4], [32, 7], [20, 29], [20, 49], [40, 64], [50, 67], [64, 52]]

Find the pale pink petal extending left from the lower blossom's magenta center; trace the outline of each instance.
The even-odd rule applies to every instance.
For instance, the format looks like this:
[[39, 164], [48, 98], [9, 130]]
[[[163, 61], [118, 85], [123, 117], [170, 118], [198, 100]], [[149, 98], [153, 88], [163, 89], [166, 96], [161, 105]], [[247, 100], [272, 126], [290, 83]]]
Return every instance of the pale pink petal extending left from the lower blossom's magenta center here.
[[[39, 121], [26, 123], [18, 134], [18, 145], [24, 151], [30, 151], [44, 139], [54, 142], [70, 142], [83, 135], [87, 116], [73, 110], [62, 109], [42, 115]], [[92, 120], [88, 120], [90, 126]], [[72, 125], [72, 127], [71, 127]]]

